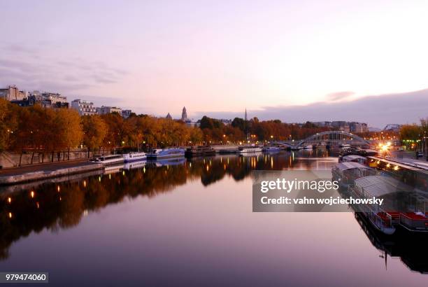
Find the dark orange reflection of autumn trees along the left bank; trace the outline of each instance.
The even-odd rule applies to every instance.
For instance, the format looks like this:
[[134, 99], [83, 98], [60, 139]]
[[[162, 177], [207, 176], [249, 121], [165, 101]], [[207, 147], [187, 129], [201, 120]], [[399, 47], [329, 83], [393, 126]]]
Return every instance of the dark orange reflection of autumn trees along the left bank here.
[[[229, 175], [240, 181], [253, 169], [283, 169], [291, 165], [290, 153], [231, 155], [193, 159], [183, 165], [147, 165], [60, 184], [36, 186], [34, 183], [34, 188], [1, 197], [0, 258], [7, 258], [8, 246], [30, 232], [41, 232], [44, 228], [71, 228], [78, 225], [85, 211], [97, 211], [108, 204], [121, 202], [125, 197], [154, 197], [185, 184], [187, 180], [200, 179], [204, 186], [208, 186]], [[31, 191], [34, 191], [34, 197], [31, 197]]]

